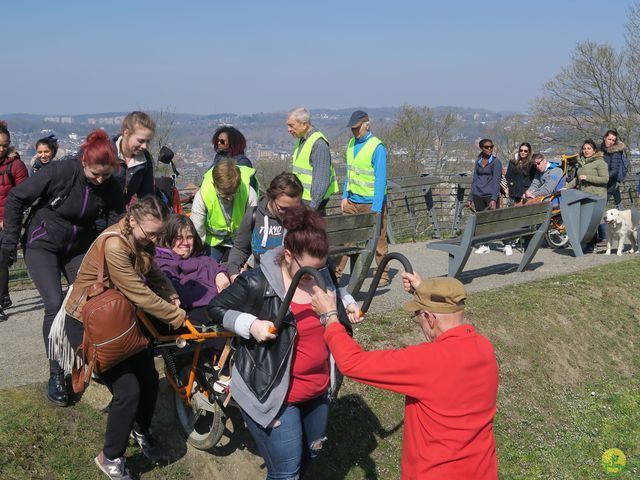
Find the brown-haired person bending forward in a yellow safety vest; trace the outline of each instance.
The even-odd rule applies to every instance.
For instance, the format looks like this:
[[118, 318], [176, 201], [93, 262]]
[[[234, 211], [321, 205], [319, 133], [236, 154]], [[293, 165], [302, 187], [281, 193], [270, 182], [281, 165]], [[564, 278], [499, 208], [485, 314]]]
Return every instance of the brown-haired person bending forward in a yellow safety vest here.
[[253, 168], [221, 160], [205, 173], [193, 199], [191, 220], [205, 251], [219, 262], [226, 261], [244, 212], [258, 204], [258, 195], [251, 186], [254, 175]]

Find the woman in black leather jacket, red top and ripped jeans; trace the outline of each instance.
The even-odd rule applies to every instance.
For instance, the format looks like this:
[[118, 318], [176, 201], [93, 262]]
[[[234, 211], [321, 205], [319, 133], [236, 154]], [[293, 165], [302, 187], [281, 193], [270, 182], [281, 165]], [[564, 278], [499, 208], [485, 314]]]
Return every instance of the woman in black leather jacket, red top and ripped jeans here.
[[[320, 215], [293, 207], [283, 225], [283, 246], [266, 252], [260, 267], [238, 276], [208, 310], [214, 322], [238, 335], [231, 389], [265, 460], [267, 479], [298, 478], [320, 452], [337, 375], [322, 319], [311, 307], [312, 277], [298, 284], [278, 333], [269, 331], [301, 267], [319, 269], [328, 289], [336, 289], [326, 268], [329, 242]], [[338, 318], [350, 332], [349, 322], [359, 320], [358, 306], [345, 292], [337, 291], [336, 297]]]

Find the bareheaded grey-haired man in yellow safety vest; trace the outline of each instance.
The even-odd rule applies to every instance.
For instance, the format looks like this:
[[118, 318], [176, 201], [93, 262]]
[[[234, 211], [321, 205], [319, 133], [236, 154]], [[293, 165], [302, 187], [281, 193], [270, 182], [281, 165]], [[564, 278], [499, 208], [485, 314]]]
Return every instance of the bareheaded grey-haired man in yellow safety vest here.
[[329, 197], [338, 191], [329, 141], [311, 125], [309, 111], [304, 107], [289, 112], [287, 130], [298, 139], [293, 150], [293, 173], [304, 187], [302, 200], [324, 213]]

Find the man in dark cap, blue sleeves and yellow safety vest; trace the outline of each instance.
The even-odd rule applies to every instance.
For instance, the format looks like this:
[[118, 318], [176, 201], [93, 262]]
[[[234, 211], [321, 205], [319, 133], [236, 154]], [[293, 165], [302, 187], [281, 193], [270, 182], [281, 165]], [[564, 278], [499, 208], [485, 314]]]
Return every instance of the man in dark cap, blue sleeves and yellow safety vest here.
[[[350, 215], [362, 212], [378, 212], [382, 215], [380, 238], [376, 247], [376, 263], [389, 252], [387, 242], [387, 149], [382, 141], [369, 131], [369, 115], [356, 110], [347, 127], [353, 138], [346, 153], [347, 176], [342, 191], [342, 213]], [[347, 265], [348, 257], [342, 257], [336, 268], [339, 278]], [[381, 287], [389, 285], [389, 268], [380, 277]]]

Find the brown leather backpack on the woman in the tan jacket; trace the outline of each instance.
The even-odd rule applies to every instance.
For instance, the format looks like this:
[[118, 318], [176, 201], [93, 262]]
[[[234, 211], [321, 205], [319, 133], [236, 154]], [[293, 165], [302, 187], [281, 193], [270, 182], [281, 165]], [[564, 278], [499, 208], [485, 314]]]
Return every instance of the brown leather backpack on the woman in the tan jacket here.
[[122, 235], [110, 232], [102, 236], [105, 238], [99, 244], [97, 281], [87, 289], [87, 301], [82, 308], [84, 336], [76, 352], [82, 366], [76, 368], [74, 364], [72, 372], [76, 393], [84, 391], [94, 370], [106, 372], [144, 350], [149, 343], [138, 325], [136, 307], [121, 292], [105, 284], [105, 243], [109, 237]]

